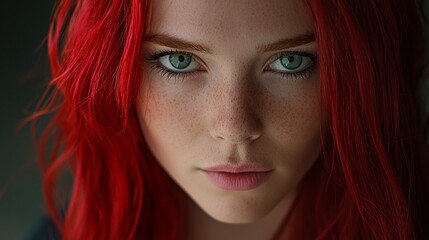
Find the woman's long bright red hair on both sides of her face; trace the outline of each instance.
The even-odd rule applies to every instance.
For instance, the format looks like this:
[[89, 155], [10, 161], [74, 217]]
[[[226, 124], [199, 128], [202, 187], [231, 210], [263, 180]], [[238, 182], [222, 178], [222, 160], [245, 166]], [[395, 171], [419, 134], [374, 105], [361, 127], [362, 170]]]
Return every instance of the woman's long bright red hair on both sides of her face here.
[[[306, 4], [327, 122], [320, 161], [292, 212], [294, 239], [429, 237], [428, 166], [415, 110], [416, 64], [426, 49], [415, 2]], [[135, 112], [148, 14], [144, 0], [62, 0], [56, 7], [50, 89], [31, 118], [54, 114], [40, 163], [64, 239], [183, 237], [182, 193], [145, 144]], [[74, 183], [67, 206], [59, 206], [55, 183], [66, 165]]]

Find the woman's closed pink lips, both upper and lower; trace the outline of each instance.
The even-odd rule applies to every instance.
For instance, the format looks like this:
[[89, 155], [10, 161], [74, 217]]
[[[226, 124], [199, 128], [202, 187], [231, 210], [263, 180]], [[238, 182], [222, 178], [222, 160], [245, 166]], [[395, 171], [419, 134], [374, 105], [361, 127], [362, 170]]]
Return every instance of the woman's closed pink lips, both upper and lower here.
[[258, 165], [219, 165], [202, 169], [209, 179], [218, 187], [225, 190], [251, 190], [265, 182], [272, 168]]

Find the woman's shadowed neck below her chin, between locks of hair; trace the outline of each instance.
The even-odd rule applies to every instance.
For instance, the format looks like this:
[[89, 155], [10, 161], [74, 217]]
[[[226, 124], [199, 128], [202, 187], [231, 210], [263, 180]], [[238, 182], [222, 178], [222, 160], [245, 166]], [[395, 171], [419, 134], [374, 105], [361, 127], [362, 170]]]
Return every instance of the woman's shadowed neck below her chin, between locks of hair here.
[[[216, 221], [207, 215], [195, 202], [186, 196], [187, 201], [187, 222], [186, 240], [214, 240], [214, 239], [247, 239], [247, 240], [270, 240], [274, 236], [287, 239], [287, 228], [282, 225], [288, 218], [288, 214], [293, 206], [295, 193], [285, 196], [262, 219], [247, 224], [228, 224]], [[279, 228], [281, 232], [278, 232]], [[279, 235], [280, 234], [280, 235]]]

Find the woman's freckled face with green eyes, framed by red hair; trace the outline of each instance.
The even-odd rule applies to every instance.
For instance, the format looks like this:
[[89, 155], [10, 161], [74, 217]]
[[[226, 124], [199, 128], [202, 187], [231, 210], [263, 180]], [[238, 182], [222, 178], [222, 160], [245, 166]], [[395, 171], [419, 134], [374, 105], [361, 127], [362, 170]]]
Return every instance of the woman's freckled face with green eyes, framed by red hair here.
[[299, 0], [157, 0], [137, 112], [161, 166], [207, 214], [261, 219], [320, 151], [319, 78]]

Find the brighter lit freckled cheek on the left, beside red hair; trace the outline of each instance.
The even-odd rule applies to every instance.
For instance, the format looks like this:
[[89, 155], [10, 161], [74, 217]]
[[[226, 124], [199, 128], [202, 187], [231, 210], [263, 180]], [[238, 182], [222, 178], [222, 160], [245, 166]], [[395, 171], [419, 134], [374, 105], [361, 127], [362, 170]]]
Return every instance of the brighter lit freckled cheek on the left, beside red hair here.
[[156, 84], [153, 87], [141, 87], [137, 100], [137, 114], [144, 138], [152, 153], [166, 166], [169, 164], [164, 160], [173, 159], [173, 156], [180, 157], [178, 154], [191, 146], [200, 129], [201, 114], [194, 99], [177, 97], [180, 93], [171, 92], [174, 91], [171, 89], [162, 91], [157, 89], [159, 86]]

